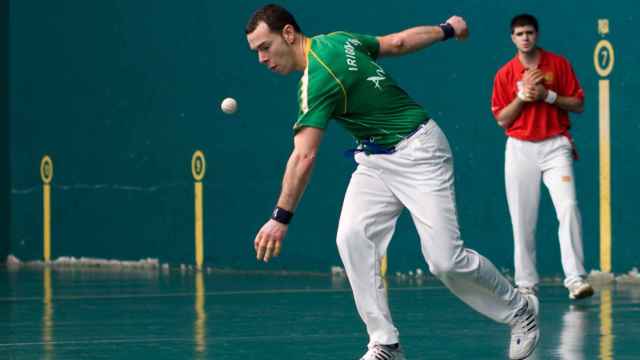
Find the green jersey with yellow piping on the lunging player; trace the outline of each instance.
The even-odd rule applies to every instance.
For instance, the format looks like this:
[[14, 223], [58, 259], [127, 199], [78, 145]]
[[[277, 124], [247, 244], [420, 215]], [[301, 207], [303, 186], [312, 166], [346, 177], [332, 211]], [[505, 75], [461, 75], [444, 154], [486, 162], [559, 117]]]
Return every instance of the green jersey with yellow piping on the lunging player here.
[[334, 32], [307, 39], [294, 131], [337, 120], [358, 141], [397, 144], [428, 119], [426, 111], [375, 62], [374, 36]]

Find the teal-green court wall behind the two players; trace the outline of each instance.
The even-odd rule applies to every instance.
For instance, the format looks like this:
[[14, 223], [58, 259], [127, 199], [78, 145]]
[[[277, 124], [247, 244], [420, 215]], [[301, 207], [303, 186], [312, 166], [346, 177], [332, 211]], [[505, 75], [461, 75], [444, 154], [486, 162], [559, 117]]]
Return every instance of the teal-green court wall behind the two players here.
[[[608, 18], [616, 53], [611, 80], [614, 270], [640, 261], [635, 204], [640, 190], [638, 42], [634, 5], [579, 1], [285, 1], [307, 34], [333, 30], [385, 34], [467, 18], [471, 38], [382, 63], [438, 121], [456, 158], [463, 238], [500, 267], [513, 246], [504, 180], [505, 138], [489, 101], [495, 71], [513, 54], [508, 22], [532, 12], [541, 45], [573, 63], [587, 95], [573, 116], [587, 268], [598, 268], [597, 20]], [[42, 254], [39, 162], [54, 162], [52, 256], [163, 262], [193, 260], [192, 153], [207, 159], [205, 262], [237, 269], [325, 271], [339, 264], [335, 229], [353, 163], [352, 145], [332, 125], [283, 256], [256, 263], [253, 237], [268, 218], [291, 150], [298, 75], [278, 77], [248, 50], [244, 24], [262, 2], [205, 0], [11, 1], [11, 252]], [[34, 11], [38, 9], [38, 11]], [[576, 9], [580, 9], [579, 13]], [[567, 17], [570, 14], [570, 25]], [[627, 35], [628, 34], [628, 35]], [[235, 97], [237, 115], [219, 111]], [[540, 270], [561, 272], [557, 222], [544, 192], [538, 231]], [[425, 267], [405, 215], [390, 248], [392, 271]]]

